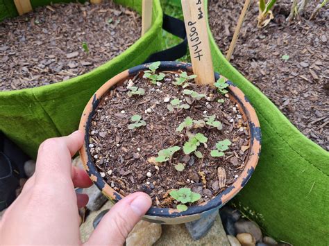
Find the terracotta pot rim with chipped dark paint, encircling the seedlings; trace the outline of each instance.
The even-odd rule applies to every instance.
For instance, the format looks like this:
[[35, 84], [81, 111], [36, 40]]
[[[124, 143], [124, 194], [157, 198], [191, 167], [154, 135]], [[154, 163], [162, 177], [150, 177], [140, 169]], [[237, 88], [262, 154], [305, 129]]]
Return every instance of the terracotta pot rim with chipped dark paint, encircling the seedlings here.
[[[90, 101], [87, 103], [80, 121], [79, 129], [85, 132], [85, 143], [80, 150], [81, 159], [85, 169], [87, 170], [87, 173], [90, 175], [90, 179], [92, 179], [94, 184], [96, 184], [96, 186], [101, 189], [104, 195], [106, 195], [110, 200], [114, 202], [120, 200], [123, 195], [112, 189], [105, 182], [97, 170], [94, 162], [92, 161], [88, 147], [90, 137], [90, 121], [95, 112], [95, 109], [98, 107], [99, 102], [102, 100], [102, 96], [106, 94], [106, 92], [108, 92], [114, 85], [120, 82], [124, 82], [128, 78], [133, 78], [140, 71], [146, 70], [147, 65], [148, 64], [143, 64], [137, 67], [133, 67], [132, 69], [123, 71], [114, 78], [108, 80], [108, 82], [106, 82], [101, 88], [99, 88], [99, 90], [96, 91], [94, 96], [92, 96]], [[171, 72], [178, 70], [192, 73], [192, 65], [182, 62], [161, 62], [158, 69], [158, 71]], [[216, 79], [219, 78], [218, 73], [214, 73], [214, 76]], [[232, 199], [242, 189], [242, 187], [244, 187], [246, 182], [248, 182], [248, 179], [250, 179], [253, 171], [255, 170], [255, 166], [258, 163], [258, 158], [260, 155], [260, 123], [258, 122], [255, 109], [253, 109], [246, 96], [244, 96], [242, 91], [235, 87], [235, 85], [233, 85], [231, 82], [229, 83], [230, 87], [228, 87], [228, 90], [230, 100], [233, 100], [239, 105], [239, 111], [242, 114], [242, 117], [248, 122], [249, 136], [251, 136], [251, 141], [249, 143], [250, 153], [246, 159], [246, 164], [242, 174], [239, 175], [237, 180], [228, 186], [225, 191], [219, 193], [216, 197], [208, 202], [203, 202], [202, 204], [189, 207], [187, 211], [184, 212], [179, 212], [176, 209], [151, 207], [151, 209], [149, 209], [149, 211], [144, 216], [145, 220], [161, 224], [180, 224], [198, 220], [199, 218], [206, 216], [215, 209], [219, 209], [224, 204], [226, 204], [226, 202]]]

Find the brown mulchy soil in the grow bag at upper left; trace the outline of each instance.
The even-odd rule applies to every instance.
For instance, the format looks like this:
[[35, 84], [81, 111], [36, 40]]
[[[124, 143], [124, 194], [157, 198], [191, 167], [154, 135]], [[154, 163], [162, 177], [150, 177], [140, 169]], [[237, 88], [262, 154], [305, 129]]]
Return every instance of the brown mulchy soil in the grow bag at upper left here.
[[49, 85], [91, 71], [133, 44], [140, 26], [137, 13], [112, 1], [54, 4], [6, 19], [0, 22], [0, 91]]

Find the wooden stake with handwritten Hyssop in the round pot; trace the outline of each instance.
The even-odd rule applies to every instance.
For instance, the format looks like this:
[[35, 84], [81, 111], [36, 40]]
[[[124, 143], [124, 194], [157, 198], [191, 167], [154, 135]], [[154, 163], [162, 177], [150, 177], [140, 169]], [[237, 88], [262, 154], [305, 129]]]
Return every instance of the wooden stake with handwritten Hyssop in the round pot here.
[[198, 85], [214, 83], [214, 67], [210, 53], [204, 0], [182, 0], [189, 53]]

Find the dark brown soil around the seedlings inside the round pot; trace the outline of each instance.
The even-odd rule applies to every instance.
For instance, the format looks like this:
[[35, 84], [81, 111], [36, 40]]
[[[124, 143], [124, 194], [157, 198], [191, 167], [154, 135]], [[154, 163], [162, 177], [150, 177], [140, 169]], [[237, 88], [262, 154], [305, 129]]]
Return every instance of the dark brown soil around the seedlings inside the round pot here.
[[[202, 195], [198, 202], [210, 200], [225, 189], [219, 188], [217, 168], [225, 168], [228, 186], [242, 172], [248, 156], [248, 150], [244, 149], [249, 143], [248, 125], [236, 105], [214, 92], [214, 89], [199, 88], [193, 84], [188, 89], [206, 94], [208, 98], [192, 102], [190, 109], [171, 113], [165, 98], [170, 96], [171, 99], [177, 97], [183, 102], [188, 101], [185, 96], [180, 96], [183, 95], [182, 87], [172, 85], [172, 80], [174, 74], [171, 73], [167, 73], [165, 82], [159, 86], [152, 85], [146, 79], [135, 78], [135, 85], [145, 89], [145, 95], [132, 98], [127, 96], [125, 82], [99, 104], [90, 127], [90, 152], [106, 182], [123, 195], [134, 191], [149, 193], [153, 205], [158, 207], [173, 207], [173, 200], [168, 196], [168, 191], [173, 188], [189, 187]], [[217, 103], [218, 98], [225, 98], [224, 103]], [[130, 117], [134, 114], [142, 116], [146, 126], [128, 130]], [[217, 121], [223, 124], [222, 130], [191, 130], [194, 134], [201, 132], [208, 137], [208, 147], [201, 144], [198, 148], [204, 159], [198, 159], [193, 154], [184, 155], [182, 148], [170, 162], [156, 164], [152, 161], [159, 150], [171, 146], [182, 147], [187, 141], [185, 132], [175, 131], [187, 116], [200, 120], [204, 115], [216, 115]], [[225, 157], [211, 157], [210, 150], [223, 139], [230, 139], [233, 143]], [[174, 168], [178, 162], [186, 164], [182, 172]], [[151, 177], [146, 175], [148, 172]]]

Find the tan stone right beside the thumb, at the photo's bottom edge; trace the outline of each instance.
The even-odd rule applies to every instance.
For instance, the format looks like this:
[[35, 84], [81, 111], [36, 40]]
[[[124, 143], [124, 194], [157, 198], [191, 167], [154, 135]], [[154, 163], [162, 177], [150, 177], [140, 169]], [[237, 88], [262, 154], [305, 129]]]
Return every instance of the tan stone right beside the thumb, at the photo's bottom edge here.
[[160, 238], [161, 234], [160, 224], [141, 220], [128, 235], [126, 246], [151, 246]]

